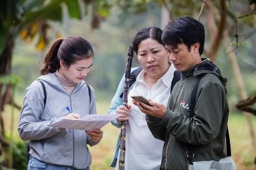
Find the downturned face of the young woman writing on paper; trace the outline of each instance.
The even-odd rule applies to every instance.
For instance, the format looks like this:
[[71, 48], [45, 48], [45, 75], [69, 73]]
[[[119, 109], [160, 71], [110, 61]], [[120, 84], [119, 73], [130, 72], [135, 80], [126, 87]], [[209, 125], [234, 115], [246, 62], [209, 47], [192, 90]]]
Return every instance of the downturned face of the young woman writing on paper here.
[[60, 68], [59, 73], [69, 81], [79, 83], [90, 71], [92, 62], [93, 56], [84, 60], [76, 61], [74, 64], [71, 64], [68, 69], [65, 65], [61, 65], [63, 68]]

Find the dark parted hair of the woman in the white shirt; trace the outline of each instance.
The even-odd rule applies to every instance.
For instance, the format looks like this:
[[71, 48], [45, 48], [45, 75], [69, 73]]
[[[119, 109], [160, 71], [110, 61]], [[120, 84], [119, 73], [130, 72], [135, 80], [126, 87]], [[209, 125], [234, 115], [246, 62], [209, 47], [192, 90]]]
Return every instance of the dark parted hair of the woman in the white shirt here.
[[133, 51], [138, 54], [138, 47], [141, 43], [141, 41], [151, 38], [156, 40], [158, 43], [162, 44], [164, 46], [164, 43], [162, 41], [162, 30], [157, 27], [147, 27], [140, 30], [137, 35], [134, 37], [132, 41], [132, 49]]

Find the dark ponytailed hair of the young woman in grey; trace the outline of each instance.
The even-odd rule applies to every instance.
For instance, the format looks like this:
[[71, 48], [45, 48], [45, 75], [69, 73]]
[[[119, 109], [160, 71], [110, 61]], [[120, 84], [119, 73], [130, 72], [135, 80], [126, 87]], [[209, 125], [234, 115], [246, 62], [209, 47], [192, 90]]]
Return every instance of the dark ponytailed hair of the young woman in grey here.
[[41, 75], [54, 73], [60, 67], [60, 60], [65, 63], [66, 67], [70, 67], [76, 61], [93, 57], [93, 49], [91, 44], [79, 36], [71, 36], [68, 38], [59, 38], [54, 41], [50, 50], [45, 55]]

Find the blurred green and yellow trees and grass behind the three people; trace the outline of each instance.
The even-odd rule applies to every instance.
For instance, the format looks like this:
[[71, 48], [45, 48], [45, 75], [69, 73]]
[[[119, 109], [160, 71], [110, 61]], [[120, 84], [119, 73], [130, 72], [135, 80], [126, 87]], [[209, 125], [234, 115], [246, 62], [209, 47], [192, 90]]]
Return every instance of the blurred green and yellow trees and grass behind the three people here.
[[[17, 131], [19, 107], [26, 87], [39, 77], [39, 63], [43, 63], [56, 38], [77, 35], [92, 44], [94, 61], [85, 81], [95, 90], [98, 113], [107, 114], [111, 98], [124, 74], [127, 49], [135, 34], [149, 26], [163, 29], [168, 21], [179, 16], [190, 15], [198, 19], [199, 15], [206, 31], [203, 57], [210, 57], [219, 66], [223, 77], [228, 78], [229, 130], [234, 160], [238, 169], [255, 169], [256, 118], [235, 107], [239, 99], [254, 94], [256, 90], [255, 3], [248, 0], [1, 1], [2, 168], [26, 169], [27, 142], [19, 139]], [[235, 49], [230, 53], [229, 48]], [[239, 67], [235, 70], [241, 71], [242, 79], [237, 80], [239, 75], [232, 66], [230, 54], [234, 54], [238, 62]], [[138, 66], [136, 60], [133, 59], [133, 66]], [[239, 83], [244, 86], [243, 92]], [[251, 107], [255, 108], [255, 104]], [[108, 124], [103, 131], [101, 143], [90, 148], [93, 156], [91, 169], [111, 169], [109, 164], [119, 130]]]

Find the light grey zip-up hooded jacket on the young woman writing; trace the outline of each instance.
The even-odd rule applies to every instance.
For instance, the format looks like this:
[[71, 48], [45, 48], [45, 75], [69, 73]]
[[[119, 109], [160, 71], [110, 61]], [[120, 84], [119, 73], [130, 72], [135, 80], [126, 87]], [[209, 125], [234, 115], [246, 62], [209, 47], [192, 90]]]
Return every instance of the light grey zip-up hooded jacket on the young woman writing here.
[[44, 92], [42, 84], [34, 81], [26, 89], [18, 124], [22, 140], [30, 140], [29, 154], [41, 162], [71, 166], [85, 169], [92, 162], [87, 148], [96, 145], [89, 135], [82, 130], [62, 129], [47, 126], [60, 121], [68, 115], [68, 106], [81, 117], [97, 114], [94, 90], [89, 91], [84, 81], [77, 83], [71, 95], [63, 88], [53, 73], [39, 77], [46, 88], [46, 104], [44, 108]]

